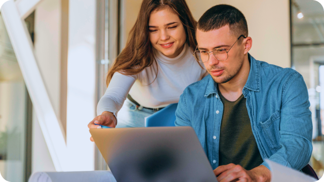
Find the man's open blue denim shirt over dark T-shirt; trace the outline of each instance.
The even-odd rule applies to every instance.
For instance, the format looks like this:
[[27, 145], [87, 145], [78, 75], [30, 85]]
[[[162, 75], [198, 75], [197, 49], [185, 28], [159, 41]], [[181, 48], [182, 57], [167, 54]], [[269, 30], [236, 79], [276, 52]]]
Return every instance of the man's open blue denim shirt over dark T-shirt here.
[[[312, 153], [312, 121], [305, 81], [291, 68], [257, 61], [251, 55], [249, 61], [250, 73], [242, 93], [247, 99], [261, 157], [263, 161], [269, 159], [301, 170]], [[213, 169], [219, 164], [223, 111], [217, 83], [210, 75], [184, 90], [176, 110], [176, 126], [193, 127]], [[269, 168], [265, 161], [262, 165]]]

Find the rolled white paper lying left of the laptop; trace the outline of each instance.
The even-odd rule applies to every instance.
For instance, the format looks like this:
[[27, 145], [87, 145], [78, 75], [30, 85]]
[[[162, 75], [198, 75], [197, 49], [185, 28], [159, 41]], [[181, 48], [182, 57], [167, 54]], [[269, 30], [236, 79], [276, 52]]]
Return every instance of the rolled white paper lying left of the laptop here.
[[36, 172], [28, 182], [116, 182], [110, 171]]

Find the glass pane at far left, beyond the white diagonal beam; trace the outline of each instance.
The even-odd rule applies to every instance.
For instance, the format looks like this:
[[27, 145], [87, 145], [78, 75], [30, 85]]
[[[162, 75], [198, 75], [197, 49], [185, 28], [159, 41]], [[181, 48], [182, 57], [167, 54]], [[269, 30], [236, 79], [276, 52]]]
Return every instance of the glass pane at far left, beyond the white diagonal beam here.
[[0, 173], [24, 181], [26, 86], [0, 15]]

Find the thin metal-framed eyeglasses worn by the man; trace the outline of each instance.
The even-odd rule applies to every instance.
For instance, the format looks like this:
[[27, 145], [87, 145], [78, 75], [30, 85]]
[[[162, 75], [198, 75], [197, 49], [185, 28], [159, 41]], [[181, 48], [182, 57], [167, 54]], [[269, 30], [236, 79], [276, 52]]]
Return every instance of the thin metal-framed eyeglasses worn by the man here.
[[[244, 35], [240, 35], [236, 41], [234, 42], [234, 44], [237, 42], [237, 40], [240, 38], [240, 37], [244, 37], [244, 38], [247, 38], [245, 37]], [[233, 45], [234, 45], [233, 44]], [[232, 45], [232, 47], [233, 47]], [[232, 49], [229, 48], [229, 50]], [[196, 49], [198, 48], [198, 45], [196, 47]], [[215, 48], [213, 51], [211, 52], [207, 52], [207, 51], [195, 51], [193, 52], [193, 57], [198, 61], [198, 62], [201, 62], [201, 63], [206, 63], [208, 60], [209, 60], [209, 53], [212, 53], [213, 52], [213, 55], [215, 56], [216, 59], [218, 59], [219, 61], [225, 61], [227, 60], [228, 58], [228, 51], [226, 51], [225, 49], [222, 49], [222, 48]]]

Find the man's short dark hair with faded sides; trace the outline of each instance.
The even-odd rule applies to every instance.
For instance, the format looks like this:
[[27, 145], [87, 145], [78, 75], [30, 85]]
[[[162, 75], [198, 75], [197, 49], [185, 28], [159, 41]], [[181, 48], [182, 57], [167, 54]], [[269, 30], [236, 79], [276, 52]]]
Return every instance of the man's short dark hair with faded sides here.
[[248, 37], [248, 23], [242, 12], [230, 5], [216, 5], [200, 17], [197, 29], [207, 32], [229, 26], [230, 33], [239, 37]]

